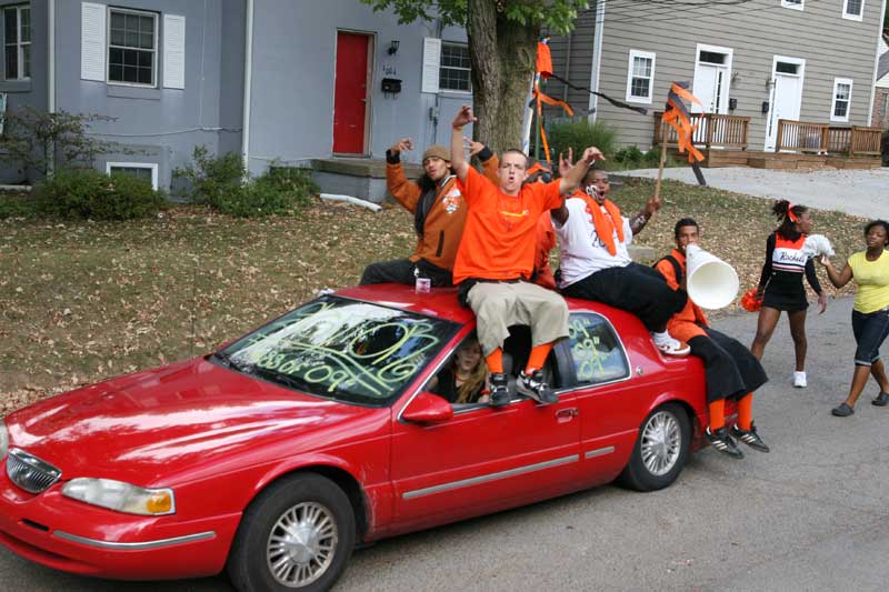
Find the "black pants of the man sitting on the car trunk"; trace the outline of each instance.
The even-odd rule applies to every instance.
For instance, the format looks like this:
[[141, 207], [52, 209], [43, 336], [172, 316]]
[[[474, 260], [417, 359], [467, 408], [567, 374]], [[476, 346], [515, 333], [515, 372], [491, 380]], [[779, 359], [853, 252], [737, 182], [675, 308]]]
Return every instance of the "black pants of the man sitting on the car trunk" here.
[[768, 382], [762, 364], [737, 339], [709, 327], [703, 330], [707, 337], [693, 337], [688, 344], [691, 355], [703, 361], [708, 403], [730, 397], [739, 399]]

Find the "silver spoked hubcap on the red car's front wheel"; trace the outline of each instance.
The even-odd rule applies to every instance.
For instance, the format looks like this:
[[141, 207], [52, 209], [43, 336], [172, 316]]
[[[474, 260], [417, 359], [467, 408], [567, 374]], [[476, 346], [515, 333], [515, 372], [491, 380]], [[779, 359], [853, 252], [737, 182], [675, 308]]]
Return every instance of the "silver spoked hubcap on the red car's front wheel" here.
[[330, 510], [317, 502], [297, 504], [271, 529], [266, 546], [269, 570], [288, 588], [310, 584], [330, 568], [338, 542]]

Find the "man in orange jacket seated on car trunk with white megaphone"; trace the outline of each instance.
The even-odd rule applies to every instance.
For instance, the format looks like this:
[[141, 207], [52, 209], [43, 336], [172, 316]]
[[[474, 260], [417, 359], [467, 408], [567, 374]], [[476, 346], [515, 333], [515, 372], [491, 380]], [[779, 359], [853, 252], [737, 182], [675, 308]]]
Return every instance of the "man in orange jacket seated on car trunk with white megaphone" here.
[[[697, 244], [699, 239], [698, 223], [683, 218], [676, 223], [676, 249], [655, 264], [655, 269], [667, 280], [667, 284], [676, 291], [686, 290], [686, 247]], [[737, 339], [711, 329], [703, 311], [688, 299], [682, 310], [673, 314], [667, 328], [676, 339], [682, 340], [691, 348], [691, 355], [703, 361], [705, 380], [707, 382], [707, 402], [710, 410], [710, 424], [705, 437], [719, 452], [733, 459], [743, 458], [735, 439], [760, 452], [768, 452], [769, 446], [762, 441], [753, 425], [753, 391], [769, 379], [762, 365]], [[726, 399], [738, 401], [738, 421], [726, 428]]]

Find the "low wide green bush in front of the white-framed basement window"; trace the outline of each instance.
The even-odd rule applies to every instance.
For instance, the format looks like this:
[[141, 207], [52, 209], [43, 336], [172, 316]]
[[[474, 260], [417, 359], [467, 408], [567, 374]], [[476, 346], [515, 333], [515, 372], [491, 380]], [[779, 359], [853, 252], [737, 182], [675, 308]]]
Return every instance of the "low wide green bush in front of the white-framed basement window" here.
[[144, 179], [94, 169], [61, 169], [33, 190], [34, 210], [59, 218], [129, 220], [167, 209], [167, 197]]

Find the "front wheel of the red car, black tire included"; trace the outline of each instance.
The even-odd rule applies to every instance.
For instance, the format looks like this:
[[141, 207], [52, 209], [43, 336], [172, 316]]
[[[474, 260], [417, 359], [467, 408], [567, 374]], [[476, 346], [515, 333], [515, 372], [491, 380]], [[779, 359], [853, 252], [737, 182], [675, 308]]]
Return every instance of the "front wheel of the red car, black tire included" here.
[[229, 576], [241, 592], [329, 590], [354, 540], [346, 493], [319, 474], [294, 474], [248, 506], [229, 552]]

